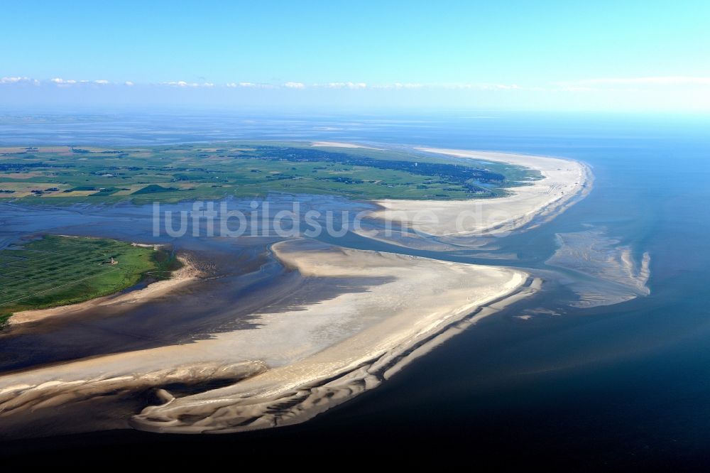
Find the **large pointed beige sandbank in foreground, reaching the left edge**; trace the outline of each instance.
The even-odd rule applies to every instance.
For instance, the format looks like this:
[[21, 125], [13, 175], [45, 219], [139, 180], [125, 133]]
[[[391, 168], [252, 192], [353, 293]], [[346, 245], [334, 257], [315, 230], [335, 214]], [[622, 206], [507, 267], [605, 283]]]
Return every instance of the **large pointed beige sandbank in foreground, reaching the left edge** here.
[[[366, 292], [258, 314], [258, 330], [0, 376], [0, 416], [98, 396], [109, 392], [102, 386], [117, 388], [121, 379], [127, 388], [137, 383], [160, 388], [194, 384], [200, 366], [249, 366], [249, 377], [224, 388], [184, 397], [162, 389], [158, 395], [165, 403], [146, 407], [131, 425], [159, 432], [222, 433], [298, 423], [378, 386], [466, 324], [536, 287], [527, 273], [511, 268], [306, 240], [280, 242], [273, 251], [307, 278], [371, 282]], [[138, 381], [146, 377], [150, 381]]]

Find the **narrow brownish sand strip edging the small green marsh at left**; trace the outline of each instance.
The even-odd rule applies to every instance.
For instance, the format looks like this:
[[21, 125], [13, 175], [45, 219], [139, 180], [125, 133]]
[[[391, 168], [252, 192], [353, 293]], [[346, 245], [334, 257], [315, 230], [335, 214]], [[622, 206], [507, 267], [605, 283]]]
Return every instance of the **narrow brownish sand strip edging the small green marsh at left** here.
[[[138, 246], [138, 244], [136, 244], [136, 246]], [[153, 245], [144, 246], [153, 247]], [[165, 281], [155, 281], [143, 289], [132, 290], [128, 293], [107, 295], [102, 298], [87, 300], [83, 303], [61, 305], [60, 307], [49, 309], [25, 310], [23, 312], [17, 312], [10, 317], [9, 324], [12, 327], [30, 322], [37, 322], [38, 320], [43, 320], [48, 317], [62, 317], [65, 315], [75, 314], [89, 308], [107, 307], [110, 305], [124, 303], [146, 303], [150, 300], [160, 298], [175, 289], [187, 286], [187, 284], [192, 283], [201, 276], [200, 270], [195, 267], [189, 256], [180, 255], [177, 256], [177, 258], [182, 263], [182, 268], [178, 269], [178, 271], [173, 271], [170, 275], [170, 279], [166, 279]]]

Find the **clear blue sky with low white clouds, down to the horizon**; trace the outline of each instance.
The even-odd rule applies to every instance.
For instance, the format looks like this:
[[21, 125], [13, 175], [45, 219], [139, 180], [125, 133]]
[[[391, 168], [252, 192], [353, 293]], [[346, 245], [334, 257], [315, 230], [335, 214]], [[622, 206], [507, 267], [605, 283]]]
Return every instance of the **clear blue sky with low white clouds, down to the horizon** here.
[[4, 1], [5, 104], [710, 109], [707, 1]]

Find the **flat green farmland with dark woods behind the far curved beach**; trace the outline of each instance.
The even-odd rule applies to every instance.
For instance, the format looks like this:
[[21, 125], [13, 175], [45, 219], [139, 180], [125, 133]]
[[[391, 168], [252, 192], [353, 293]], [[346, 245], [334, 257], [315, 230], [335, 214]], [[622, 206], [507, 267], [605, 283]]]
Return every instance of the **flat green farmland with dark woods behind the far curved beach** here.
[[273, 192], [461, 200], [506, 195], [541, 177], [504, 163], [302, 142], [0, 148], [0, 202], [23, 204], [141, 205]]

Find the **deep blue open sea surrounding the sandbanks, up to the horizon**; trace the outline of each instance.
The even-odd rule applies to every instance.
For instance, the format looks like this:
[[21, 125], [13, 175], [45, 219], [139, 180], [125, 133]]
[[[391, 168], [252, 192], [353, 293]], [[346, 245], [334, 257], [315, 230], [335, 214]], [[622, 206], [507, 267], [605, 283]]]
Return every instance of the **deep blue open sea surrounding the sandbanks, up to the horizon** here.
[[[466, 455], [471, 464], [710, 466], [710, 119], [701, 116], [476, 112], [410, 116], [237, 116], [225, 113], [0, 114], [0, 146], [328, 139], [510, 151], [579, 159], [594, 190], [516, 237], [543, 268], [555, 234], [603, 228], [651, 257], [650, 295], [520, 320], [523, 301], [454, 337], [374, 391], [304, 425], [185, 437], [133, 431], [6, 442], [20, 462], [155, 460], [174, 452], [235, 458]], [[554, 307], [569, 292], [546, 290]], [[542, 298], [542, 300], [540, 300]], [[529, 304], [529, 303], [528, 303]], [[87, 445], [90, 447], [87, 452]], [[361, 452], [354, 454], [354, 452]], [[362, 453], [368, 452], [368, 453]]]

